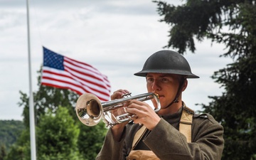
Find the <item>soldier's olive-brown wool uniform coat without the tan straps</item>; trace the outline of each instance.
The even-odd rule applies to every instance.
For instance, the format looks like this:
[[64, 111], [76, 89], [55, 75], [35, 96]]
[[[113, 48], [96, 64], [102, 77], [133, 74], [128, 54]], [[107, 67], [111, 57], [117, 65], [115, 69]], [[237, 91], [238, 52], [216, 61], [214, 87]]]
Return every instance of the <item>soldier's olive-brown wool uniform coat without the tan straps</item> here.
[[[162, 116], [159, 124], [144, 134], [135, 150], [151, 150], [161, 160], [221, 159], [224, 147], [223, 127], [210, 114], [195, 114], [191, 143], [187, 143], [186, 137], [178, 132], [182, 108], [175, 114]], [[139, 124], [127, 124], [120, 142], [114, 141], [110, 129], [96, 159], [126, 159], [132, 149], [134, 135], [140, 127], [142, 126]]]

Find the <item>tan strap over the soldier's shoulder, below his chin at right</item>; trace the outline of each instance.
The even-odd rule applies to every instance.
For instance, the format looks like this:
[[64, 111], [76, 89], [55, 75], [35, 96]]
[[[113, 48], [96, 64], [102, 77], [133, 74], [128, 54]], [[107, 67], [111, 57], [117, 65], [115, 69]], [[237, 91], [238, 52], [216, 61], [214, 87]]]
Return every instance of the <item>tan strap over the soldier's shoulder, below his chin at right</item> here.
[[183, 105], [183, 110], [181, 114], [181, 121], [179, 124], [179, 132], [186, 136], [187, 142], [191, 143], [191, 127], [193, 120], [194, 111]]

